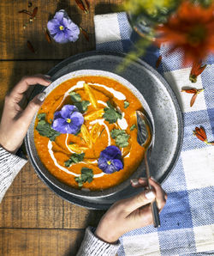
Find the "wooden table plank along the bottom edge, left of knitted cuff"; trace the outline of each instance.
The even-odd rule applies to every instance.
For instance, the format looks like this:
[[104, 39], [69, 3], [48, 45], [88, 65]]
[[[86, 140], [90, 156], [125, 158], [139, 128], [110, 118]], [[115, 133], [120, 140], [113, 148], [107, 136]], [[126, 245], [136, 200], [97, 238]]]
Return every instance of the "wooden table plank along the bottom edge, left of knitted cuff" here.
[[76, 255], [84, 230], [74, 229], [2, 229], [1, 255], [73, 256]]

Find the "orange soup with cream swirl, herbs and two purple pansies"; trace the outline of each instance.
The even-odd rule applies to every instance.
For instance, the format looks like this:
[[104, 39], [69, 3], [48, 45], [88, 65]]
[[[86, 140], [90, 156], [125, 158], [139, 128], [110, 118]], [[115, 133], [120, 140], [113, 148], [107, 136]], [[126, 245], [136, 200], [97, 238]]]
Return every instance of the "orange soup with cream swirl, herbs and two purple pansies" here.
[[137, 97], [105, 76], [62, 82], [45, 99], [35, 122], [41, 162], [56, 179], [74, 188], [99, 191], [127, 180], [140, 166]]

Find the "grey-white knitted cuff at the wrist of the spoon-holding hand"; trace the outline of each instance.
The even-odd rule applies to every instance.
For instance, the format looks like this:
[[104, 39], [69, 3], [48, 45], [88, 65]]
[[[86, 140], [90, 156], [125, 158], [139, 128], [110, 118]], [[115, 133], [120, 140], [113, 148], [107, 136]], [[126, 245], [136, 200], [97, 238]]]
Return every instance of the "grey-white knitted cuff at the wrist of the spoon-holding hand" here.
[[84, 240], [81, 243], [77, 256], [112, 256], [116, 255], [119, 247], [119, 241], [116, 244], [109, 244], [99, 240], [98, 237], [93, 235], [92, 228], [89, 227], [86, 229], [86, 234]]

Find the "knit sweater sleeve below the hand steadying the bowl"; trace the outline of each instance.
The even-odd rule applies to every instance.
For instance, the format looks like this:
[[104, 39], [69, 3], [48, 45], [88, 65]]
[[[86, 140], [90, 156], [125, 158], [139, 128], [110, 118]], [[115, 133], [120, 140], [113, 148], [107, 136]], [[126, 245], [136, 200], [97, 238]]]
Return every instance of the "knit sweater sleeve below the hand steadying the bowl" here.
[[19, 171], [26, 163], [27, 160], [18, 155], [10, 154], [0, 147], [0, 203], [15, 176], [19, 174]]

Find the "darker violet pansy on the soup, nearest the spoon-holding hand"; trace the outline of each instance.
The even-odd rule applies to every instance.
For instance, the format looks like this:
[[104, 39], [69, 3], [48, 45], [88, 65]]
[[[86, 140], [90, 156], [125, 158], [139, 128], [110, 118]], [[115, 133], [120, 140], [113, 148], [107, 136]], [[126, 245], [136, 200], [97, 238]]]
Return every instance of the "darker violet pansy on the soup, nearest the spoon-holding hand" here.
[[122, 153], [116, 146], [104, 149], [98, 158], [98, 168], [105, 174], [113, 174], [123, 168]]

